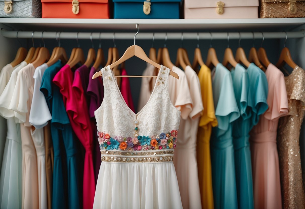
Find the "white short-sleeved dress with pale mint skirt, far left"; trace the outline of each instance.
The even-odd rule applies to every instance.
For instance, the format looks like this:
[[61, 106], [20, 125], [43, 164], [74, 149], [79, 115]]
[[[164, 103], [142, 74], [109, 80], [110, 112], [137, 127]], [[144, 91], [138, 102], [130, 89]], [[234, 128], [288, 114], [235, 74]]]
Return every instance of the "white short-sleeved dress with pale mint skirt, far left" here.
[[21, 62], [11, 73], [0, 96], [0, 115], [7, 119], [7, 136], [0, 177], [0, 208], [21, 208], [22, 153], [20, 124], [16, 124], [9, 104], [16, 85], [18, 72], [26, 66]]

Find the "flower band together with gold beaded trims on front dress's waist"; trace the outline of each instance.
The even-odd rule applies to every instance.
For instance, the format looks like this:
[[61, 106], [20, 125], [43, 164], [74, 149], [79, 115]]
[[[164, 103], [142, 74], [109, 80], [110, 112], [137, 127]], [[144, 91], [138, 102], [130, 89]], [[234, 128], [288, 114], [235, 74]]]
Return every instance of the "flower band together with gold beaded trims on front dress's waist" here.
[[97, 132], [102, 161], [166, 162], [173, 161], [177, 130], [152, 136], [122, 137]]

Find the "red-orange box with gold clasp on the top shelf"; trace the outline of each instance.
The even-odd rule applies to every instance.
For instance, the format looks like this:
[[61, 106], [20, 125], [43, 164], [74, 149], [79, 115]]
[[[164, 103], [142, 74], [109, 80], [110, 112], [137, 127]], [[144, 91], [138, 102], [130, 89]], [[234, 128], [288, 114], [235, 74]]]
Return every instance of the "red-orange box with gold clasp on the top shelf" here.
[[41, 0], [42, 18], [109, 18], [108, 0]]

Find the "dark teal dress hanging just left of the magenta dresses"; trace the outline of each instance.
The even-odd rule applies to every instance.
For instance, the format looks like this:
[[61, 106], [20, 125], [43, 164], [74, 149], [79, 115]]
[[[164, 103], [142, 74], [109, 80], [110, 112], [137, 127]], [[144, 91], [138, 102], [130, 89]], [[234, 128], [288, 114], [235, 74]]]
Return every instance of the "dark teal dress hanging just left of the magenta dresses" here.
[[52, 208], [80, 208], [77, 178], [77, 147], [63, 96], [53, 82], [62, 68], [61, 61], [45, 70], [40, 90], [48, 104], [54, 148]]

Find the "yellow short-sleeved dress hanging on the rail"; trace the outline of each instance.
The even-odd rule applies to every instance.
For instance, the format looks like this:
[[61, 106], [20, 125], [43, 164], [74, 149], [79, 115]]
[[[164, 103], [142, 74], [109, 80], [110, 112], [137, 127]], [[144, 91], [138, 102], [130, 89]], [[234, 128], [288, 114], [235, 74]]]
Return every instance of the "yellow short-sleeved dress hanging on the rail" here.
[[197, 135], [197, 163], [198, 177], [201, 193], [201, 203], [203, 209], [213, 209], [213, 188], [212, 188], [212, 169], [210, 155], [210, 137], [212, 126], [217, 126], [215, 116], [211, 70], [206, 66], [201, 66], [198, 74], [201, 97], [203, 102], [203, 115], [199, 121]]

